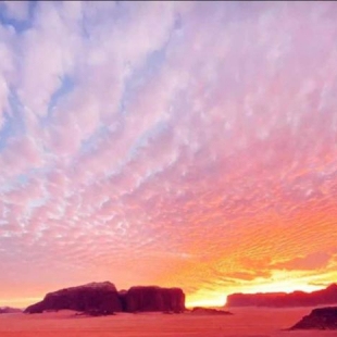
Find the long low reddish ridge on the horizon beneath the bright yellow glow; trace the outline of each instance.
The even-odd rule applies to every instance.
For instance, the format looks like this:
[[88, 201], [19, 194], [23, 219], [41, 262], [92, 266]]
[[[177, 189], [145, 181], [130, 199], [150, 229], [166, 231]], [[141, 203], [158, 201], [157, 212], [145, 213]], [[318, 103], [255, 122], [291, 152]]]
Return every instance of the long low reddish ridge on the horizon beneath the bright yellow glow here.
[[337, 285], [313, 292], [233, 294], [226, 307], [317, 307], [337, 303]]

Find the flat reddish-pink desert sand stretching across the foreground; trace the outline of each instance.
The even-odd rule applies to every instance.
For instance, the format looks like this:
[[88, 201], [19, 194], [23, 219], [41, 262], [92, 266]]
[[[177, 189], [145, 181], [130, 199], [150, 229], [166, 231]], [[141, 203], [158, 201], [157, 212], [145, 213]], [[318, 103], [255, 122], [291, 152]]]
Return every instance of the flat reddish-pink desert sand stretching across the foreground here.
[[324, 337], [337, 332], [284, 332], [311, 309], [234, 309], [234, 315], [120, 313], [86, 317], [72, 311], [0, 315], [1, 337]]

